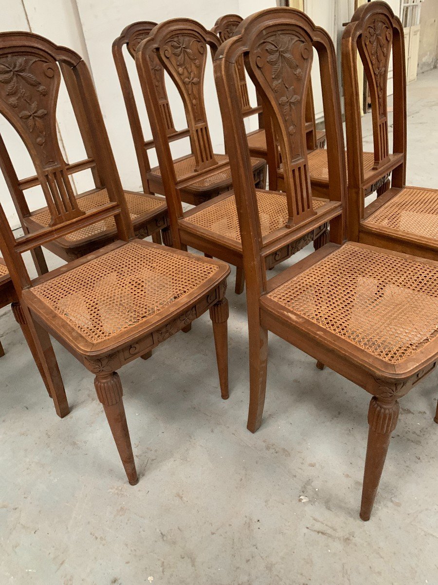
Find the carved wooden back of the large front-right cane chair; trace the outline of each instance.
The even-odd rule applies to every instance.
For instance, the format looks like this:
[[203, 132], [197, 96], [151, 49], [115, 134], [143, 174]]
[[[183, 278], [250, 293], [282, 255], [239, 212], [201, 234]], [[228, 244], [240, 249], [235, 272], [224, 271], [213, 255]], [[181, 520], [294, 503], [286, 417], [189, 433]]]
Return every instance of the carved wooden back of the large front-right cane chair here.
[[[315, 47], [321, 70], [329, 168], [329, 198], [344, 201], [346, 172], [336, 57], [325, 30], [301, 11], [273, 8], [249, 16], [238, 26], [214, 59], [214, 75], [223, 117], [244, 252], [249, 295], [266, 291], [264, 257], [280, 247], [282, 236], [296, 230], [297, 238], [314, 228], [312, 191], [305, 140], [305, 98]], [[288, 221], [273, 243], [262, 237], [256, 191], [251, 178], [248, 140], [239, 107], [235, 63], [243, 56], [279, 139], [284, 165]], [[342, 242], [343, 222], [331, 222], [331, 241]], [[268, 250], [269, 249], [269, 250]], [[258, 306], [258, 302], [257, 302]]]

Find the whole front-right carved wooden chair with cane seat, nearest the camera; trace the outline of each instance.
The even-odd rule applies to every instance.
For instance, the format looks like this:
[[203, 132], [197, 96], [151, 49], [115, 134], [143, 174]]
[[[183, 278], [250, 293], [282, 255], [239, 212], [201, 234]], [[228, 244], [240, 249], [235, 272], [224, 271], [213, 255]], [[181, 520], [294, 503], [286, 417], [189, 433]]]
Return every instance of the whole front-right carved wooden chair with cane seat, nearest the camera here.
[[[272, 46], [287, 47], [284, 59], [280, 53], [277, 59], [270, 59]], [[293, 233], [303, 237], [318, 222], [312, 209], [307, 147], [300, 127], [312, 46], [318, 51], [321, 70], [330, 205], [336, 214], [327, 245], [267, 280], [267, 253], [280, 249]], [[242, 55], [267, 105], [284, 168], [288, 169], [284, 178], [290, 216], [277, 231], [274, 243], [263, 238], [251, 181], [234, 69]], [[438, 263], [362, 243], [343, 243], [346, 172], [335, 50], [328, 33], [307, 15], [273, 8], [245, 19], [236, 36], [216, 54], [214, 73], [230, 153], [247, 284], [248, 429], [255, 432], [262, 421], [268, 331], [317, 359], [319, 367], [326, 364], [364, 388], [372, 395], [360, 512], [367, 520], [397, 424], [398, 398], [438, 363]]]

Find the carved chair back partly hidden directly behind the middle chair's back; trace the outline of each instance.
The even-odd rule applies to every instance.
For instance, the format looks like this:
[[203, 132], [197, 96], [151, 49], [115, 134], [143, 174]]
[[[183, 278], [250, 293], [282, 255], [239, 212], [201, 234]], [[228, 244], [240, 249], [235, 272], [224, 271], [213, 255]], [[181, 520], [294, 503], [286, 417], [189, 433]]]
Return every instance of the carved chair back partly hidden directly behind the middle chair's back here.
[[[134, 91], [126, 66], [124, 47], [126, 47], [130, 56], [135, 59], [135, 51], [137, 50], [138, 45], [142, 40], [147, 39], [151, 30], [154, 29], [155, 26], [157, 26], [157, 23], [151, 22], [150, 20], [134, 22], [132, 25], [126, 26], [121, 32], [121, 35], [117, 37], [113, 43], [114, 63], [116, 64], [117, 74], [119, 75], [121, 91], [123, 93], [131, 134], [134, 140], [135, 154], [137, 155], [138, 167], [140, 168], [141, 182], [145, 193], [150, 193], [147, 178], [147, 173], [151, 170], [148, 150], [155, 148], [155, 143], [154, 140], [145, 140], [144, 138], [140, 116], [138, 115], [137, 104], [135, 102]], [[177, 131], [173, 123], [169, 98], [166, 91], [164, 68], [154, 54], [152, 54], [150, 58], [151, 68], [154, 75], [154, 85], [157, 89], [161, 115], [165, 121], [169, 142], [186, 138], [187, 136], [190, 136], [189, 129], [185, 128]]]

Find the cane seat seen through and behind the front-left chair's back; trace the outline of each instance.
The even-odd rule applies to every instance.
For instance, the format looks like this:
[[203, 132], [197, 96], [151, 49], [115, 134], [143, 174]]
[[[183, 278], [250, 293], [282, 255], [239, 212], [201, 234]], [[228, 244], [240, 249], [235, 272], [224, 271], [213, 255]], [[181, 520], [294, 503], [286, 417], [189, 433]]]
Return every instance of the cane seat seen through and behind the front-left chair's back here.
[[[145, 197], [144, 195], [137, 195], [135, 193], [129, 192], [125, 192], [124, 195], [129, 214], [133, 221], [134, 219], [137, 219], [142, 215], [150, 214], [151, 212], [165, 205], [164, 199], [154, 196]], [[101, 205], [109, 203], [108, 192], [106, 189], [95, 191], [88, 195], [84, 195], [84, 197], [79, 197], [77, 201], [79, 209], [82, 209], [82, 211], [91, 211], [96, 207], [100, 207]], [[50, 223], [50, 211], [45, 209], [44, 211], [33, 215], [32, 219], [37, 223], [40, 223], [40, 225], [47, 227]], [[86, 238], [99, 236], [100, 233], [105, 232], [106, 230], [115, 229], [116, 223], [114, 222], [114, 218], [110, 217], [98, 223], [93, 223], [92, 225], [86, 226], [86, 228], [79, 229], [77, 232], [69, 233], [67, 236], [65, 236], [65, 239], [69, 242], [80, 242]]]

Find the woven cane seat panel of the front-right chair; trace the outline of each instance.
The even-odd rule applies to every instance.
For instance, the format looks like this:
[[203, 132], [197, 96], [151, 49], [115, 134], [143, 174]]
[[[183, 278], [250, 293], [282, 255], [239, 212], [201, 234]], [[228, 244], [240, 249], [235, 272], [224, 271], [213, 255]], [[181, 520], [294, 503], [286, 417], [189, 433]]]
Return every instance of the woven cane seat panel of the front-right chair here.
[[267, 297], [389, 363], [438, 333], [438, 266], [352, 244]]

